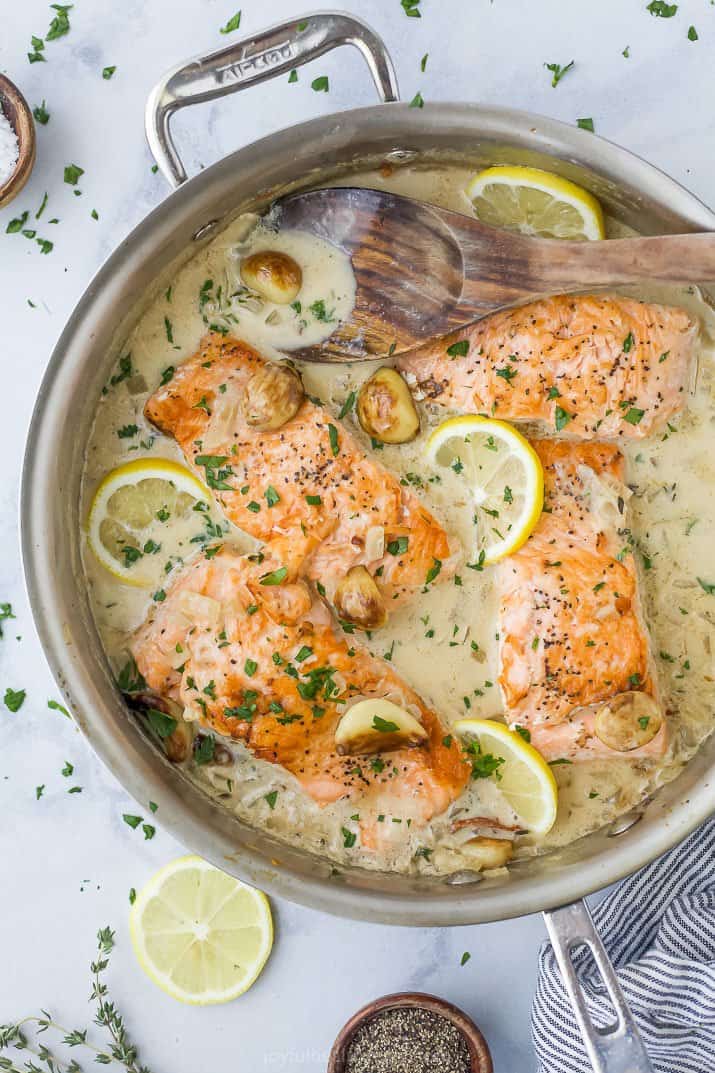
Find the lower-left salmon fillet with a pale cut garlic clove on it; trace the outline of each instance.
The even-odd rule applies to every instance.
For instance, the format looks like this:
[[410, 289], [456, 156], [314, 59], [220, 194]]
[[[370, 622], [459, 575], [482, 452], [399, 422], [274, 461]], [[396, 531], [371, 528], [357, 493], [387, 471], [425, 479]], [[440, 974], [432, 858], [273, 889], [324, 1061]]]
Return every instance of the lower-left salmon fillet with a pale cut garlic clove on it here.
[[[130, 643], [149, 689], [280, 764], [321, 805], [367, 797], [415, 823], [442, 812], [469, 766], [436, 712], [389, 663], [336, 636], [305, 582], [266, 585], [254, 558], [224, 546], [178, 575]], [[425, 745], [338, 755], [336, 725], [365, 697], [410, 710], [428, 733]]]

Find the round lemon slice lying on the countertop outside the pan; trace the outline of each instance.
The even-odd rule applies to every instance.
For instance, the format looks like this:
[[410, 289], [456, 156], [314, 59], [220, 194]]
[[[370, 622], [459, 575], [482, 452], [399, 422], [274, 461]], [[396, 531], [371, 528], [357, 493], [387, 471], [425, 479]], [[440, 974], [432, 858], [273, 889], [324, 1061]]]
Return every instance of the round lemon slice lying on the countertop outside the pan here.
[[146, 974], [192, 1005], [243, 995], [273, 946], [266, 896], [201, 857], [161, 868], [137, 895], [129, 926]]

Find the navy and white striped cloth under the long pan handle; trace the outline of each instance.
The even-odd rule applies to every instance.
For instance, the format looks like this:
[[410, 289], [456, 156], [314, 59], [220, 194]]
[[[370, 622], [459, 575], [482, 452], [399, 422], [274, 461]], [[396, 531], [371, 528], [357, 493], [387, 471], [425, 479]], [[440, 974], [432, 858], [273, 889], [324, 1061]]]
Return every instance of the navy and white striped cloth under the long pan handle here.
[[[593, 910], [656, 1073], [715, 1073], [715, 820]], [[587, 952], [573, 956], [595, 1025], [612, 1021]], [[590, 1069], [551, 943], [531, 1014], [539, 1073]]]

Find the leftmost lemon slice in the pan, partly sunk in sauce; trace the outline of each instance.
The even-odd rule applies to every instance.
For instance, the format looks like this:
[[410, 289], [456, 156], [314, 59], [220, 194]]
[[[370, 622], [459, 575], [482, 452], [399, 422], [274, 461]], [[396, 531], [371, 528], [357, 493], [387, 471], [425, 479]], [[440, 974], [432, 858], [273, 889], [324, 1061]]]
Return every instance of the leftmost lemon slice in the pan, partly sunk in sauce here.
[[163, 571], [158, 556], [166, 526], [186, 518], [208, 491], [167, 458], [140, 458], [112, 470], [89, 509], [89, 544], [103, 567], [131, 585], [151, 585]]

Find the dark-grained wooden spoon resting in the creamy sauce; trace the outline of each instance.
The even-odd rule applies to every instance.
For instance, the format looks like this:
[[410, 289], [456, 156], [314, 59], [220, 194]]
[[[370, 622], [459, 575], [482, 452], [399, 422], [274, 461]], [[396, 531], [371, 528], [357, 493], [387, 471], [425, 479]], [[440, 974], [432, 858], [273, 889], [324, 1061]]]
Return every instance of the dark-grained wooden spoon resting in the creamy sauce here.
[[530, 238], [380, 190], [335, 187], [276, 204], [276, 223], [345, 250], [358, 292], [350, 319], [295, 351], [354, 362], [409, 350], [504, 306], [546, 294], [715, 279], [715, 232], [598, 242]]

